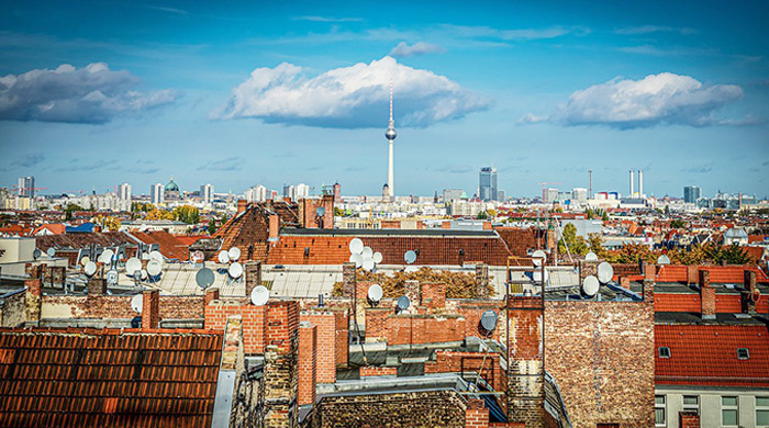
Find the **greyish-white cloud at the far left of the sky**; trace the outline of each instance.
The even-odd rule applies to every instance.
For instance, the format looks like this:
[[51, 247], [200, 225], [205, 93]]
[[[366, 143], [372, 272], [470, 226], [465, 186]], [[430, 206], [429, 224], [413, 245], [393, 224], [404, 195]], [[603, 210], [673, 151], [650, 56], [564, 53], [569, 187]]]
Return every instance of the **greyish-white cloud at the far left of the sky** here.
[[34, 69], [0, 77], [0, 120], [105, 123], [123, 113], [172, 102], [170, 90], [137, 92], [138, 78], [104, 63]]

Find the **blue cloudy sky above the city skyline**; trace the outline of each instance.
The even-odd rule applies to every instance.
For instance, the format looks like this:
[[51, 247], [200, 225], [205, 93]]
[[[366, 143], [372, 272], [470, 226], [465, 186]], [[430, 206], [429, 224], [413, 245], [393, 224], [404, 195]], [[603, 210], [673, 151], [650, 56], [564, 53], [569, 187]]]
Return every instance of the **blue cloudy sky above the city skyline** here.
[[3, 1], [0, 185], [769, 194], [766, 2], [537, 3]]

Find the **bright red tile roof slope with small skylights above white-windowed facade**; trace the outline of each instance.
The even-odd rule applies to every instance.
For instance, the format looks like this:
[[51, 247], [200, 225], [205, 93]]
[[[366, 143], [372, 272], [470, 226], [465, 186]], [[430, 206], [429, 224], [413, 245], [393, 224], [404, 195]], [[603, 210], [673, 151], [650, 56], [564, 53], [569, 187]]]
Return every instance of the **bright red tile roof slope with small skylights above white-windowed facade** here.
[[[765, 325], [656, 325], [656, 382], [665, 385], [769, 387]], [[670, 358], [659, 358], [659, 347]], [[749, 358], [737, 359], [737, 348]]]

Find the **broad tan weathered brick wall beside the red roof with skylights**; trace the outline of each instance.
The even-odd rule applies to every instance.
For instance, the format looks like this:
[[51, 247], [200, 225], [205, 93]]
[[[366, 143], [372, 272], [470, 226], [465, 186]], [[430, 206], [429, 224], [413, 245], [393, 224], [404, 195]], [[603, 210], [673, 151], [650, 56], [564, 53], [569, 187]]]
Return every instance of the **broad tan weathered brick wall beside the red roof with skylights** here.
[[654, 426], [654, 305], [546, 302], [546, 369], [575, 428]]

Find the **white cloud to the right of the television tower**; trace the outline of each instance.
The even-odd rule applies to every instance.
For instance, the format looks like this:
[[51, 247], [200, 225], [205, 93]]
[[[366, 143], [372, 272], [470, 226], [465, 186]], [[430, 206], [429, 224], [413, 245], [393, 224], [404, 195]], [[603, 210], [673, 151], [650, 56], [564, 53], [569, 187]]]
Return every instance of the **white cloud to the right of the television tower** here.
[[[573, 92], [569, 101], [546, 120], [562, 125], [602, 124], [620, 128], [681, 124], [707, 126], [731, 124], [715, 112], [743, 95], [734, 85], [704, 86], [689, 76], [671, 72], [640, 80], [612, 79]], [[536, 120], [533, 120], [536, 119]], [[543, 122], [528, 113], [519, 123]]]

